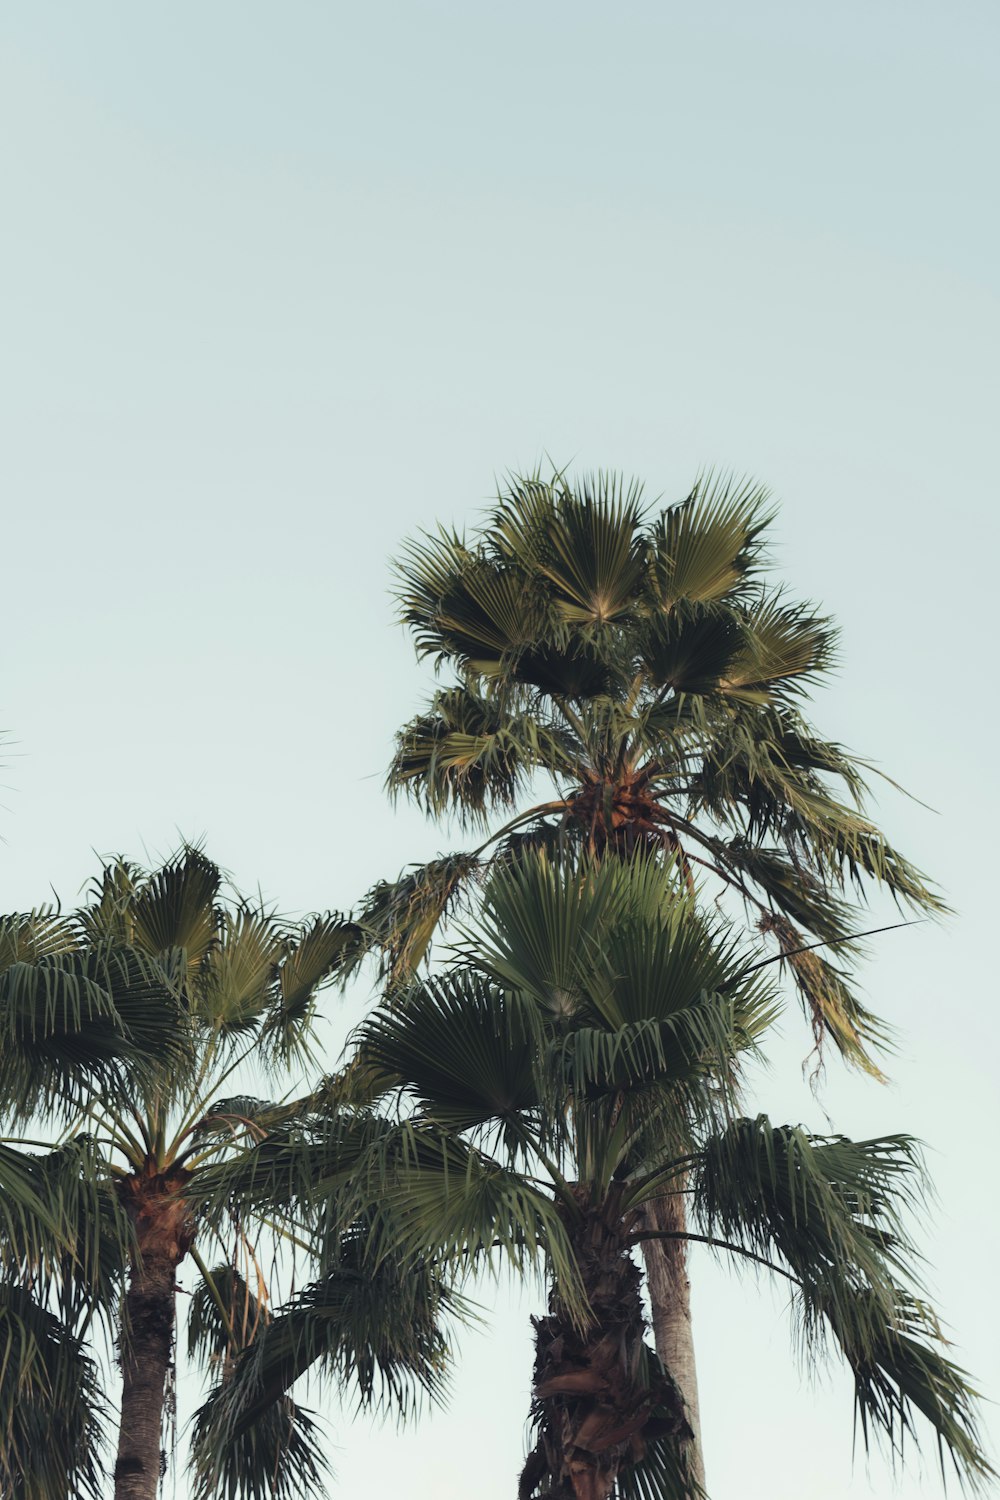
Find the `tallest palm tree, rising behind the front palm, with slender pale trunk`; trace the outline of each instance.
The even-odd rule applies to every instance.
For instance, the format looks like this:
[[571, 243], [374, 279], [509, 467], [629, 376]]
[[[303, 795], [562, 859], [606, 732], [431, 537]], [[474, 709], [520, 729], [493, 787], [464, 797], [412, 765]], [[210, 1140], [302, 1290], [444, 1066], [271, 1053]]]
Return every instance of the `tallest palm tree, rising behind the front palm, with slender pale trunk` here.
[[[750, 483], [709, 477], [651, 512], [615, 476], [531, 476], [471, 538], [442, 530], [408, 548], [402, 620], [451, 680], [402, 729], [388, 788], [484, 838], [369, 894], [360, 922], [390, 982], [517, 849], [655, 849], [777, 940], [817, 1052], [831, 1040], [880, 1076], [886, 1029], [844, 960], [853, 897], [880, 885], [918, 910], [942, 903], [867, 814], [868, 768], [802, 714], [835, 632], [769, 585], [771, 519]], [[664, 1234], [684, 1230], [679, 1197], [649, 1214]], [[684, 1242], [664, 1239], [646, 1264], [657, 1348], [697, 1431]]]

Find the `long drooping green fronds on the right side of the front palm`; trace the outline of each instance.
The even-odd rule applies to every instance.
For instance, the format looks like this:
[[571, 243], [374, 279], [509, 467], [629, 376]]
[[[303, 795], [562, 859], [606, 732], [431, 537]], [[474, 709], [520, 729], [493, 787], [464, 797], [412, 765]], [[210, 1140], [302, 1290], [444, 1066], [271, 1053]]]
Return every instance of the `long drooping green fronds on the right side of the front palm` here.
[[799, 1284], [802, 1332], [832, 1334], [855, 1374], [862, 1437], [880, 1430], [901, 1452], [921, 1413], [958, 1472], [982, 1484], [975, 1392], [940, 1352], [916, 1282], [907, 1209], [921, 1203], [918, 1148], [907, 1136], [852, 1142], [735, 1120], [703, 1143], [694, 1209], [708, 1234], [778, 1258]]

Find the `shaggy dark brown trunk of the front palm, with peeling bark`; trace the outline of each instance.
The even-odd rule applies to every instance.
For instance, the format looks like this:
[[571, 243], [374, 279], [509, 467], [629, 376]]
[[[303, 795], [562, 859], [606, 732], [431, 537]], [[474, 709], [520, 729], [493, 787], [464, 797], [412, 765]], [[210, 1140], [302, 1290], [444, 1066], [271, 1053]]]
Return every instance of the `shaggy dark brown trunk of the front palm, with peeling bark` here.
[[532, 1416], [537, 1443], [520, 1476], [519, 1500], [607, 1500], [619, 1472], [657, 1437], [690, 1437], [681, 1395], [643, 1348], [642, 1276], [628, 1254], [634, 1215], [622, 1218], [613, 1191], [580, 1216], [565, 1215], [591, 1322], [570, 1317], [559, 1288], [549, 1316], [534, 1318]]

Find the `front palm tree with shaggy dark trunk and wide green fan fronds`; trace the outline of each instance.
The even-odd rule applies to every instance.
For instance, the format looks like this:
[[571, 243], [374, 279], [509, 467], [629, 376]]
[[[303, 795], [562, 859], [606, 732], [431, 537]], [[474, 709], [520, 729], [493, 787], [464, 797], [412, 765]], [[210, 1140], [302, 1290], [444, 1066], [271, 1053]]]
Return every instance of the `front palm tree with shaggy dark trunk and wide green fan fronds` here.
[[[492, 872], [453, 963], [361, 1024], [340, 1110], [244, 1162], [255, 1209], [295, 1154], [316, 1212], [345, 1212], [351, 1191], [378, 1204], [376, 1260], [381, 1245], [466, 1270], [498, 1254], [544, 1266], [519, 1500], [700, 1492], [682, 1394], [643, 1338], [633, 1251], [663, 1234], [784, 1280], [807, 1347], [853, 1372], [865, 1446], [880, 1430], [901, 1452], [921, 1414], [966, 1478], [990, 1474], [913, 1281], [915, 1143], [736, 1112], [739, 1059], [775, 1010], [769, 974], [699, 916], [679, 866], [523, 852]], [[649, 1204], [678, 1197], [690, 1227], [651, 1227]]]

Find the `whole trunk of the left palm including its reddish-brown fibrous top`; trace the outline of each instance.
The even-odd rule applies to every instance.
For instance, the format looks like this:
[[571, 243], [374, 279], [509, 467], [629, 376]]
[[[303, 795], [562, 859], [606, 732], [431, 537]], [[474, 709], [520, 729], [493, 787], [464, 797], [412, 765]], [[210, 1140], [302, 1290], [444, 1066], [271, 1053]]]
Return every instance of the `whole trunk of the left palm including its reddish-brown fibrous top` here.
[[121, 1426], [115, 1500], [156, 1500], [162, 1472], [163, 1394], [174, 1348], [177, 1266], [192, 1232], [181, 1173], [136, 1173], [121, 1185], [135, 1226], [121, 1334]]

